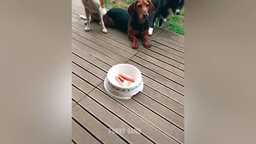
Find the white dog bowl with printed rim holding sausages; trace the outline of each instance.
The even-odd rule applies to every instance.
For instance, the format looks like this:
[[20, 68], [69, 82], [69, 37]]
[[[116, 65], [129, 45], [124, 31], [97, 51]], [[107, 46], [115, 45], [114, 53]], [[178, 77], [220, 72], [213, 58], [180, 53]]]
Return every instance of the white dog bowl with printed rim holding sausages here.
[[[119, 74], [135, 79], [135, 82], [127, 85], [127, 81], [124, 81], [124, 86], [121, 86], [116, 81], [115, 77]], [[111, 67], [108, 70], [107, 77], [104, 81], [104, 87], [107, 93], [118, 99], [131, 99], [131, 97], [143, 90], [143, 81], [140, 70], [132, 65], [122, 63]]]

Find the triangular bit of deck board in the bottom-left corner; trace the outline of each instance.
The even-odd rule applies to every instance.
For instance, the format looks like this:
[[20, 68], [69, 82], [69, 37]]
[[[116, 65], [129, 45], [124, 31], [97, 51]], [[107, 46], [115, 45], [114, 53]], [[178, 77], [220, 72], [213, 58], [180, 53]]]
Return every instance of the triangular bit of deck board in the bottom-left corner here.
[[100, 143], [97, 139], [93, 138], [90, 133], [88, 133], [80, 125], [78, 125], [74, 120], [72, 120], [72, 139], [77, 144]]

